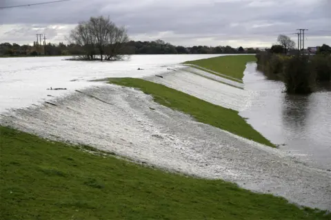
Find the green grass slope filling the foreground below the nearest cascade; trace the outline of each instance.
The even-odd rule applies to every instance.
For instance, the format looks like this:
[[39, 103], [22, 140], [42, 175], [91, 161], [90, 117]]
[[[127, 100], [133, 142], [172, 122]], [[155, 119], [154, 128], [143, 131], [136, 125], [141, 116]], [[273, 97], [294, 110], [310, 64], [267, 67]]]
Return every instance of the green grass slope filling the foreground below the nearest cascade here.
[[221, 180], [165, 173], [3, 126], [0, 135], [3, 220], [331, 217]]

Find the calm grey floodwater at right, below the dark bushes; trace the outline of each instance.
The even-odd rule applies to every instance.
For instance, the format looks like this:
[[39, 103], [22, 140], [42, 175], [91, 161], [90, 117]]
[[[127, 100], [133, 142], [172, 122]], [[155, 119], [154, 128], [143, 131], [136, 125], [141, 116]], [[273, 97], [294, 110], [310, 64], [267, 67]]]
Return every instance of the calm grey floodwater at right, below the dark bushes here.
[[331, 169], [331, 85], [302, 96], [283, 92], [283, 83], [268, 80], [249, 64], [243, 78], [252, 106], [240, 114], [279, 148], [305, 162]]

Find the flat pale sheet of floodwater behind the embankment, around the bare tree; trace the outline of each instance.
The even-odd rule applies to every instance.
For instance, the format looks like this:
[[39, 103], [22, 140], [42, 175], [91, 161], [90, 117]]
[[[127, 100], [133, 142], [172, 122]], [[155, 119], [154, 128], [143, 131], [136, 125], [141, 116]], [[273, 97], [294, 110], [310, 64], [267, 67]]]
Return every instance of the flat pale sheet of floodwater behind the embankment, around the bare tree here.
[[[100, 84], [88, 80], [151, 76], [167, 71], [166, 66], [213, 56], [220, 55], [135, 55], [128, 61], [102, 63], [63, 61], [68, 57], [0, 58], [0, 113]], [[68, 90], [46, 90], [50, 87]]]

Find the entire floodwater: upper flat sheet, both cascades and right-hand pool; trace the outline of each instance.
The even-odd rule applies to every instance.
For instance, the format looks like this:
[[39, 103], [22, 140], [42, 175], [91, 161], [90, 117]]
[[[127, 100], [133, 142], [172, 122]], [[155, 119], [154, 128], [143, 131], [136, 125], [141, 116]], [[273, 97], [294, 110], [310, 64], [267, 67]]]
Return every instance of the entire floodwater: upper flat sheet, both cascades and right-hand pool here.
[[[330, 88], [285, 96], [283, 85], [265, 80], [254, 64], [248, 65], [243, 83], [178, 65], [208, 57], [132, 56], [112, 63], [3, 58], [0, 124], [331, 210]], [[89, 81], [106, 77], [146, 78], [235, 109], [269, 140], [285, 145], [263, 146], [195, 122], [136, 89]]]

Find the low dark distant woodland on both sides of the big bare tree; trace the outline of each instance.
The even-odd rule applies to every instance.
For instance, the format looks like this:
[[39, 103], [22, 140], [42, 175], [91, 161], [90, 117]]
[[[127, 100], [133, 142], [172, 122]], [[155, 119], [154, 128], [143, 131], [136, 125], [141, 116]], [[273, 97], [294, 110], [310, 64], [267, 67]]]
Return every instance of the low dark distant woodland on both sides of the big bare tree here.
[[[257, 48], [244, 49], [243, 47], [234, 48], [230, 46], [174, 46], [161, 40], [128, 41], [125, 48], [126, 54], [256, 54], [259, 52]], [[0, 56], [37, 56], [39, 54], [48, 56], [82, 55], [83, 47], [74, 43], [48, 43], [46, 46], [18, 45], [17, 43], [0, 44]]]

